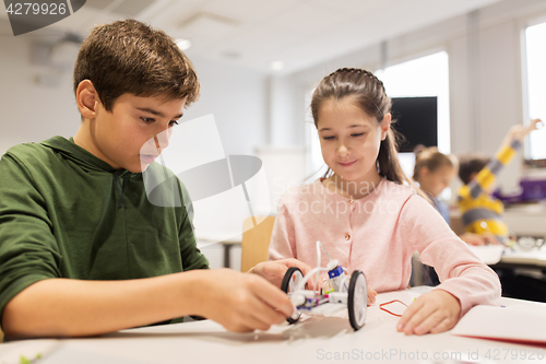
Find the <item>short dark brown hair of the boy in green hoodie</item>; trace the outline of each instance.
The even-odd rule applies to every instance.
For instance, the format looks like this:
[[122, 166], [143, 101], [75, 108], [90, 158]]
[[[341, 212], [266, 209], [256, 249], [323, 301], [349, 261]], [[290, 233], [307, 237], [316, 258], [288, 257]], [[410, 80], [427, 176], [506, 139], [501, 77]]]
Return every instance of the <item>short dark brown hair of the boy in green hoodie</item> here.
[[74, 93], [90, 80], [106, 110], [124, 93], [167, 101], [199, 97], [193, 64], [163, 31], [135, 20], [98, 25], [83, 42], [74, 67]]

